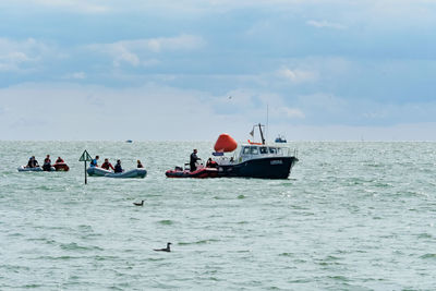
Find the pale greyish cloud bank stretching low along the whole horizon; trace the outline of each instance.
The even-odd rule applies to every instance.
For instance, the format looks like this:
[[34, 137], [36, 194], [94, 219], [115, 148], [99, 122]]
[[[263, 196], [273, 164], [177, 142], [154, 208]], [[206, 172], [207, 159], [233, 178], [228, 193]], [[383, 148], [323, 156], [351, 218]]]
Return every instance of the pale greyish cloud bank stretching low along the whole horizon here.
[[[271, 133], [292, 133], [287, 136], [293, 140], [360, 140], [362, 135], [365, 140], [425, 140], [413, 130], [431, 124], [436, 114], [433, 101], [387, 106], [350, 102], [320, 93], [291, 100], [271, 92], [242, 88], [214, 96], [152, 84], [124, 88], [23, 84], [1, 88], [0, 100], [0, 131], [5, 140], [197, 141], [228, 132], [242, 141], [252, 124], [265, 122], [267, 105]], [[35, 112], [50, 114], [39, 114], [33, 122], [28, 117]], [[400, 132], [395, 130], [398, 124], [411, 125]], [[385, 138], [372, 131], [383, 132]]]

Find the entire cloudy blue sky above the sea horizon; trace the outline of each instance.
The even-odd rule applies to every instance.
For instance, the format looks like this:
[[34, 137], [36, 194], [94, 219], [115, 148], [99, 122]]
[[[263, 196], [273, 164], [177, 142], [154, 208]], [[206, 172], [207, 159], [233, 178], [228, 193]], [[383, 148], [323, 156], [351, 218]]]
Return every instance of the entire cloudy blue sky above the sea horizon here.
[[0, 0], [0, 140], [436, 141], [435, 0]]

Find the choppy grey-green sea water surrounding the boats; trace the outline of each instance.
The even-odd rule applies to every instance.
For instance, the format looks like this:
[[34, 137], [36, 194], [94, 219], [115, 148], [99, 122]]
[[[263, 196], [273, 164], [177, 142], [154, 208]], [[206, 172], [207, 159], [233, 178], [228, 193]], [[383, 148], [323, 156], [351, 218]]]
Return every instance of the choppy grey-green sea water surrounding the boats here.
[[[288, 180], [175, 180], [211, 143], [0, 142], [0, 290], [436, 289], [435, 143], [289, 146]], [[84, 149], [148, 175], [85, 185]]]

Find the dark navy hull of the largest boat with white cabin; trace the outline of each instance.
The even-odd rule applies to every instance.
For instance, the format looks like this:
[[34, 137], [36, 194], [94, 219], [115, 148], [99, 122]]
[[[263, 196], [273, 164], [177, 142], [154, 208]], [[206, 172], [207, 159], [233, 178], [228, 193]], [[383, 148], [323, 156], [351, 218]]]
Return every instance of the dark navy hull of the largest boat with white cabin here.
[[251, 159], [240, 163], [220, 165], [219, 177], [244, 177], [261, 179], [288, 179], [295, 157], [266, 157]]

